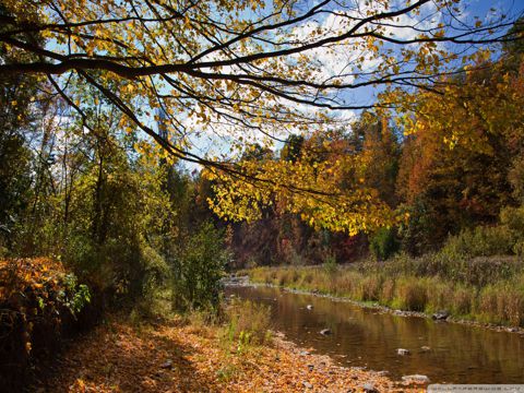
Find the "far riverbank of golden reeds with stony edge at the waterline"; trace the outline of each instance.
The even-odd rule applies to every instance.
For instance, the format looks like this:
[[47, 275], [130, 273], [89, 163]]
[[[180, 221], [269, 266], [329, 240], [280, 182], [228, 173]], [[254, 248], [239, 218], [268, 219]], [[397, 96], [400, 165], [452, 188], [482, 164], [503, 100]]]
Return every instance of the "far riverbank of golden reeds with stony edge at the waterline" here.
[[354, 301], [397, 314], [524, 333], [524, 279], [515, 274], [484, 285], [439, 275], [416, 275], [413, 266], [279, 266], [238, 272], [251, 283]]

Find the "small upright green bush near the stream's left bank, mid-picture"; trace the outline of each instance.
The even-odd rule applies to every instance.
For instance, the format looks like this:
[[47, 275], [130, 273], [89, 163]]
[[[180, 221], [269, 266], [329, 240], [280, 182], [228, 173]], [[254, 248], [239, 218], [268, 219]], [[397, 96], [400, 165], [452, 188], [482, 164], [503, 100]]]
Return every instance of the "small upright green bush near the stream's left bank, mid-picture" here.
[[224, 233], [204, 223], [190, 236], [174, 261], [174, 306], [177, 309], [216, 309], [221, 278], [231, 254]]

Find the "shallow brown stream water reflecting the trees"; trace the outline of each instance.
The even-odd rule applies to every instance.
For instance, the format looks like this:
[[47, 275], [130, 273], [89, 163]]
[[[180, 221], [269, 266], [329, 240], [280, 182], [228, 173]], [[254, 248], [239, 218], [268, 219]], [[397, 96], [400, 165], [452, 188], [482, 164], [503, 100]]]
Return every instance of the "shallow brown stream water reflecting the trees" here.
[[[380, 313], [276, 288], [227, 287], [230, 294], [271, 305], [275, 330], [346, 366], [388, 370], [393, 378], [422, 373], [432, 382], [524, 383], [524, 337], [517, 334]], [[325, 327], [333, 334], [319, 334]], [[397, 348], [410, 355], [398, 356]]]

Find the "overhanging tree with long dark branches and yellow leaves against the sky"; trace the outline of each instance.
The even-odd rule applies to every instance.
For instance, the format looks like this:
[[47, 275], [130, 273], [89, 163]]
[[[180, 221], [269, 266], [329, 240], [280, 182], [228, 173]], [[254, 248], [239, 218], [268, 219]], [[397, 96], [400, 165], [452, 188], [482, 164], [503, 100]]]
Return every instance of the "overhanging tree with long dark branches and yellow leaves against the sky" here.
[[[121, 128], [205, 167], [222, 184], [216, 213], [254, 218], [276, 194], [311, 225], [349, 233], [395, 219], [367, 188], [341, 188], [341, 167], [360, 163], [253, 166], [237, 159], [245, 142], [271, 145], [329, 130], [345, 121], [338, 110], [395, 105], [368, 99], [373, 86], [432, 90], [469, 46], [514, 39], [505, 31], [517, 16], [467, 21], [458, 0], [3, 0], [0, 10], [3, 50], [24, 55], [1, 74], [46, 78], [87, 128], [88, 105], [70, 82], [93, 86]], [[233, 154], [199, 153], [203, 134], [227, 138]]]

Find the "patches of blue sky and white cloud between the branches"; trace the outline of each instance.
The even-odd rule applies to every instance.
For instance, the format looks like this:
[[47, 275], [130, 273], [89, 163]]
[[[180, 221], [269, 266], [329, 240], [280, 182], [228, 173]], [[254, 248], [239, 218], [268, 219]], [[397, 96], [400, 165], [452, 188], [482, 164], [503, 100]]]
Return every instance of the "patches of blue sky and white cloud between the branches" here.
[[[344, 0], [343, 0], [344, 1]], [[303, 0], [303, 7], [306, 9], [310, 9], [319, 0]], [[346, 4], [348, 4], [345, 9], [337, 9], [340, 5], [338, 1], [333, 1], [330, 4], [325, 5], [325, 12], [314, 17], [308, 19], [306, 22], [301, 22], [301, 24], [296, 24], [291, 27], [290, 31], [286, 33], [293, 34], [291, 37], [295, 37], [298, 43], [303, 44], [307, 43], [308, 39], [311, 39], [311, 32], [313, 31], [321, 31], [321, 35], [326, 37], [333, 37], [341, 34], [341, 32], [346, 32], [355, 25], [354, 17], [364, 17], [366, 14], [360, 13], [364, 10], [368, 10], [369, 8], [382, 11], [377, 4], [377, 2], [371, 2], [371, 5], [365, 5], [364, 0], [345, 0]], [[400, 4], [404, 5], [405, 0], [390, 0], [390, 9], [395, 9], [401, 7]], [[356, 4], [360, 5], [361, 9], [357, 8]], [[524, 11], [524, 0], [498, 0], [498, 1], [487, 1], [487, 0], [462, 0], [458, 3], [458, 7], [462, 10], [462, 13], [458, 13], [455, 20], [450, 16], [450, 21], [452, 21], [456, 26], [460, 27], [462, 23], [466, 23], [468, 25], [474, 25], [478, 17], [478, 21], [483, 23], [489, 23], [490, 20], [493, 17], [498, 17], [501, 14], [507, 14], [508, 17], [514, 19], [515, 15], [522, 15]], [[337, 11], [337, 13], [333, 13], [331, 11]], [[264, 11], [261, 11], [264, 12]], [[251, 14], [253, 16], [258, 11]], [[406, 27], [406, 26], [415, 26], [417, 28], [422, 29], [432, 29], [437, 26], [439, 22], [445, 22], [445, 20], [441, 19], [439, 15], [434, 14], [434, 3], [429, 2], [421, 8], [421, 14], [417, 15], [415, 13], [402, 15], [398, 21], [392, 21], [391, 25], [385, 27], [386, 32], [384, 34], [393, 34], [395, 38], [398, 39], [409, 39], [414, 38], [418, 32], [416, 29]], [[275, 36], [273, 36], [275, 38]], [[276, 36], [278, 38], [278, 36]], [[318, 39], [318, 38], [317, 38]], [[353, 40], [353, 44], [355, 40]], [[252, 45], [253, 43], [248, 43], [247, 46]], [[140, 41], [138, 43], [140, 45]], [[390, 44], [385, 43], [384, 49], [386, 49]], [[413, 46], [416, 48], [415, 46]], [[52, 48], [52, 43], [50, 43], [50, 48]], [[476, 50], [477, 48], [473, 47], [469, 48], [471, 51]], [[265, 50], [265, 49], [264, 49]], [[267, 48], [267, 50], [275, 50], [275, 48]], [[396, 57], [397, 49], [395, 49]], [[342, 81], [344, 84], [353, 84], [355, 82], [359, 82], [366, 80], [365, 76], [360, 79], [355, 76], [355, 73], [358, 73], [358, 69], [356, 67], [361, 66], [364, 71], [373, 71], [377, 69], [379, 64], [388, 64], [384, 61], [384, 55], [381, 57], [373, 57], [373, 52], [365, 47], [364, 50], [359, 49], [352, 49], [352, 43], [348, 41], [347, 45], [333, 45], [331, 48], [314, 48], [308, 51], [312, 63], [320, 64], [317, 70], [312, 73], [311, 78], [314, 82], [322, 84], [325, 81], [332, 81], [333, 78], [337, 81]], [[205, 57], [202, 60], [216, 60], [223, 53], [219, 51], [215, 51], [210, 57]], [[362, 57], [364, 56], [364, 57]], [[395, 55], [393, 55], [395, 57]], [[364, 59], [364, 60], [361, 60]], [[296, 58], [293, 56], [287, 57], [285, 60], [282, 60], [283, 64], [287, 62], [286, 67], [293, 64], [294, 61], [296, 62]], [[311, 63], [309, 63], [311, 64]], [[460, 67], [460, 62], [456, 66], [453, 66], [453, 69]], [[405, 64], [406, 68], [410, 68], [412, 64]], [[210, 71], [204, 69], [204, 71]], [[223, 73], [231, 73], [235, 74], [236, 72], [243, 72], [241, 69], [236, 67], [223, 67], [221, 69]], [[257, 72], [257, 71], [254, 71]], [[177, 78], [175, 75], [175, 78]], [[372, 104], [376, 97], [377, 92], [381, 87], [362, 87], [360, 90], [350, 91], [347, 90], [344, 93], [341, 93], [340, 97], [344, 100], [345, 105], [352, 105], [353, 103], [357, 103], [359, 105], [369, 105]], [[314, 93], [314, 92], [313, 92]], [[227, 95], [228, 93], [225, 92]], [[302, 93], [300, 93], [302, 94]], [[325, 100], [326, 102], [326, 100]], [[264, 105], [261, 103], [261, 105]], [[315, 108], [311, 106], [306, 106], [301, 104], [297, 104], [294, 102], [286, 102], [283, 99], [283, 105], [293, 108], [298, 112], [306, 112], [311, 114], [313, 116], [315, 112]], [[217, 119], [215, 122], [216, 129], [219, 134], [223, 134], [222, 138], [215, 138], [213, 132], [211, 131], [212, 127], [210, 124], [200, 126], [191, 114], [191, 110], [188, 109], [187, 112], [177, 114], [178, 119], [182, 121], [191, 131], [191, 143], [193, 153], [199, 155], [203, 155], [206, 152], [212, 152], [214, 155], [225, 153], [228, 147], [230, 146], [230, 142], [238, 138], [239, 135], [245, 135], [250, 133], [247, 130], [241, 129], [233, 129], [227, 126], [222, 126], [221, 120]], [[344, 111], [334, 111], [332, 112], [333, 116], [337, 117], [337, 119], [342, 123], [350, 123], [352, 119], [355, 116], [358, 116], [357, 110], [344, 110]], [[144, 119], [145, 122], [148, 124], [153, 123], [153, 119]], [[153, 126], [153, 124], [152, 124]], [[270, 130], [273, 132], [269, 124], [262, 124], [265, 130]], [[277, 130], [282, 132], [284, 130]], [[287, 134], [286, 134], [287, 133]], [[288, 129], [278, 134], [281, 139], [286, 139], [289, 133], [297, 133], [294, 129]], [[200, 135], [200, 136], [199, 136]], [[262, 141], [262, 134], [254, 134], [252, 138], [248, 139], [250, 142], [260, 142]], [[275, 148], [281, 147], [282, 144], [275, 144]]]

